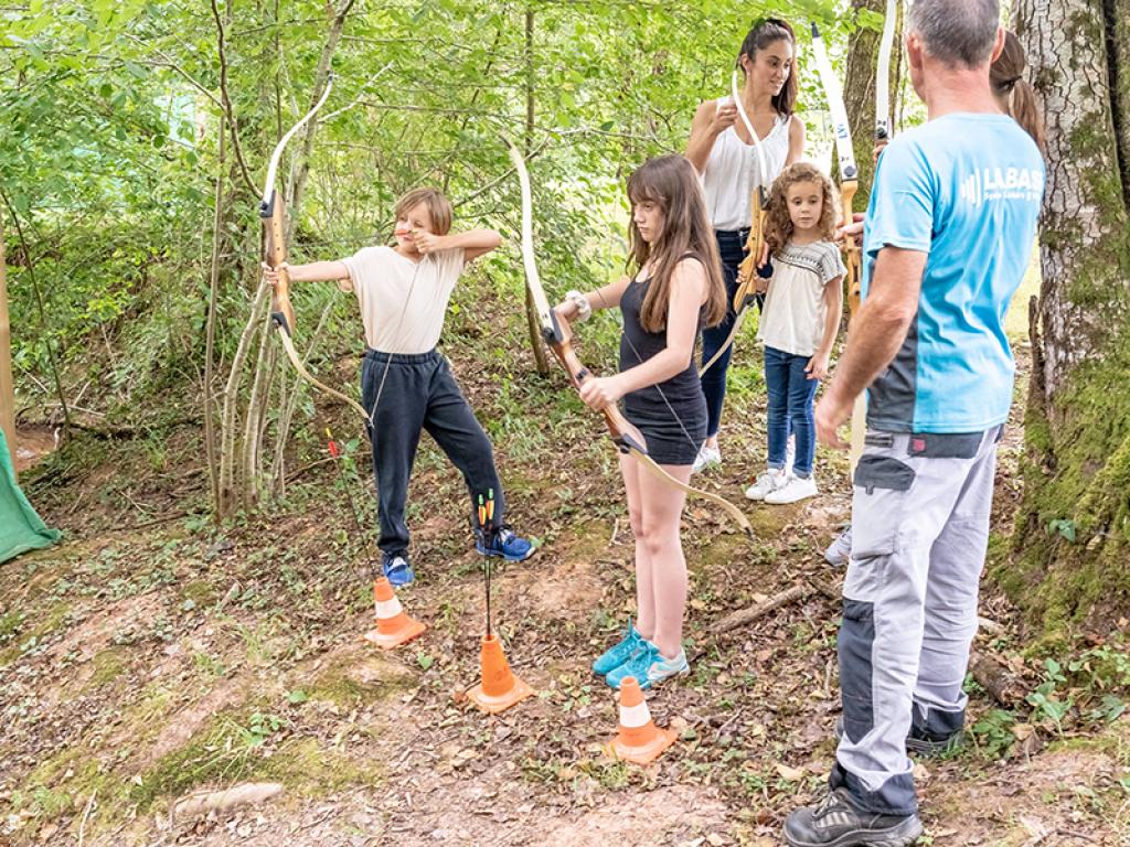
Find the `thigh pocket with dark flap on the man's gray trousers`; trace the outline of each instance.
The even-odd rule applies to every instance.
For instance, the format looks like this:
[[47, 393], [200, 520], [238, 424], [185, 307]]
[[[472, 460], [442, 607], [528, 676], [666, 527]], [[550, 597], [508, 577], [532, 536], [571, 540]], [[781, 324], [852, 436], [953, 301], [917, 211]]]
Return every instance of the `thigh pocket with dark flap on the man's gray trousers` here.
[[860, 456], [852, 480], [852, 559], [895, 552], [898, 530], [906, 517], [906, 492], [914, 477], [914, 469], [895, 456]]

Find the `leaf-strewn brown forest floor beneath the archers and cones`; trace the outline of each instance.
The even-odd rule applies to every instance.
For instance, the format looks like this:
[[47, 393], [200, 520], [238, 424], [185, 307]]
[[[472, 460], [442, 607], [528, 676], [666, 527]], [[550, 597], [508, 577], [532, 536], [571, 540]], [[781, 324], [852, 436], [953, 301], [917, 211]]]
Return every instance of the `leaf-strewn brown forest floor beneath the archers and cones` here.
[[[411, 490], [418, 578], [399, 596], [428, 630], [391, 653], [362, 638], [371, 552], [328, 461], [293, 471], [270, 514], [216, 530], [191, 514], [205, 480], [199, 434], [129, 449], [86, 439], [82, 455], [45, 459], [24, 477], [64, 542], [0, 566], [0, 844], [780, 842], [784, 817], [819, 794], [833, 761], [843, 570], [820, 553], [849, 517], [844, 459], [822, 451], [824, 494], [812, 500], [747, 504], [763, 392], [742, 392], [757, 376], [736, 369], [725, 464], [695, 481], [742, 504], [756, 539], [690, 503], [686, 632], [688, 653], [702, 655], [688, 678], [649, 696], [679, 741], [647, 767], [612, 761], [603, 745], [616, 700], [589, 664], [634, 602], [615, 457], [575, 403], [572, 417], [513, 414], [532, 395], [519, 382], [499, 388], [464, 353], [452, 360], [492, 421], [511, 517], [540, 543], [497, 573], [493, 603], [510, 661], [537, 696], [497, 717], [466, 699], [484, 631], [480, 559], [458, 474], [427, 439]], [[557, 376], [531, 391], [559, 396]], [[1019, 497], [1022, 401], [1001, 449], [993, 556], [1007, 555]], [[348, 411], [323, 403], [322, 418]], [[370, 521], [372, 501], [349, 484]], [[800, 601], [706, 634], [793, 585], [806, 588]], [[971, 743], [918, 766], [921, 842], [1130, 844], [1124, 641], [1034, 648], [988, 580], [982, 615], [976, 649], [1023, 692], [1006, 708], [970, 683]], [[171, 814], [195, 792], [264, 781], [281, 793]]]

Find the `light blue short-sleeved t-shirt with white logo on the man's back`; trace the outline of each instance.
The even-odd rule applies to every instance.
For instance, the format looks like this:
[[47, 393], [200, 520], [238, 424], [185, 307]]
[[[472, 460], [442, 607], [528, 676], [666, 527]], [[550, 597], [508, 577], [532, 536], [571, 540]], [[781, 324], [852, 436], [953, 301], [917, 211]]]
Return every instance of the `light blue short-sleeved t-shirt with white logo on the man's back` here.
[[906, 339], [868, 388], [868, 427], [980, 433], [1006, 421], [1015, 366], [1005, 313], [1032, 256], [1043, 191], [1040, 150], [1007, 115], [945, 115], [883, 151], [863, 229], [863, 297], [885, 246], [929, 256]]

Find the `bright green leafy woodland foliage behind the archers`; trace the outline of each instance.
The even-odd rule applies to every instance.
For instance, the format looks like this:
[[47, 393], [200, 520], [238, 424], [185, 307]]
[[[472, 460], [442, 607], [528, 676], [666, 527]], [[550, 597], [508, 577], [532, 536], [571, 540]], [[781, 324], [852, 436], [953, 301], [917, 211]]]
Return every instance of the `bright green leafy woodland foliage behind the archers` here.
[[[534, 154], [537, 236], [551, 295], [602, 281], [623, 261], [627, 173], [647, 156], [683, 149], [695, 105], [727, 89], [753, 20], [783, 14], [803, 41], [799, 16], [838, 19], [829, 0], [528, 8], [529, 45], [521, 6], [350, 11], [311, 178], [294, 210], [294, 261], [383, 241], [394, 199], [421, 183], [453, 198], [458, 226], [493, 226], [516, 241], [503, 130]], [[220, 8], [241, 155], [234, 160], [228, 143], [223, 167], [221, 361], [258, 281], [255, 186], [281, 130], [313, 96], [324, 11], [313, 0]], [[201, 370], [223, 95], [216, 21], [199, 12], [156, 0], [37, 0], [5, 14], [11, 49], [0, 52], [0, 213], [17, 372], [46, 384], [50, 343], [75, 382], [104, 386], [121, 417], [142, 414], [139, 400], [184, 396]], [[823, 125], [815, 75], [800, 79], [801, 111]], [[469, 296], [493, 287], [503, 331], [522, 343], [516, 252], [510, 246], [481, 264]], [[318, 349], [356, 348], [349, 298], [299, 286], [295, 303], [299, 347], [329, 308]], [[316, 355], [312, 365], [325, 366]]]

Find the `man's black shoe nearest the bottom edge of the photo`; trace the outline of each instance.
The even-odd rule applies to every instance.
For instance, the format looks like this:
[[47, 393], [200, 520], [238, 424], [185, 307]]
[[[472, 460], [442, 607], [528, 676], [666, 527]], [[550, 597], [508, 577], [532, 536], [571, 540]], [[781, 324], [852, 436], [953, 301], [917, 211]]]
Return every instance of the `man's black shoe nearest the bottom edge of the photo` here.
[[815, 806], [798, 809], [784, 822], [784, 840], [790, 847], [910, 847], [922, 835], [916, 814], [862, 812], [849, 796], [836, 788]]

